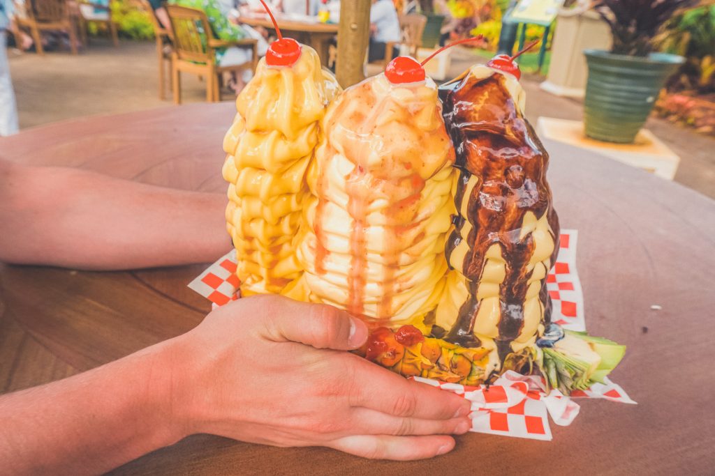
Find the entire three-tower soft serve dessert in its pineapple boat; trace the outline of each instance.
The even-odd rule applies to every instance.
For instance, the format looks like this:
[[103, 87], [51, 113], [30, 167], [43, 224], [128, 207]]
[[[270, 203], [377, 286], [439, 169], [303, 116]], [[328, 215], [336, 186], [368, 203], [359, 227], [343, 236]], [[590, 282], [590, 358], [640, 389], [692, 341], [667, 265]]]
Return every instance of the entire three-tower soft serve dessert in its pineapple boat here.
[[259, 66], [225, 141], [242, 294], [360, 316], [361, 355], [402, 375], [569, 393], [615, 367], [623, 346], [551, 323], [558, 219], [513, 58], [439, 93], [405, 57], [342, 93], [307, 47], [291, 65]]

